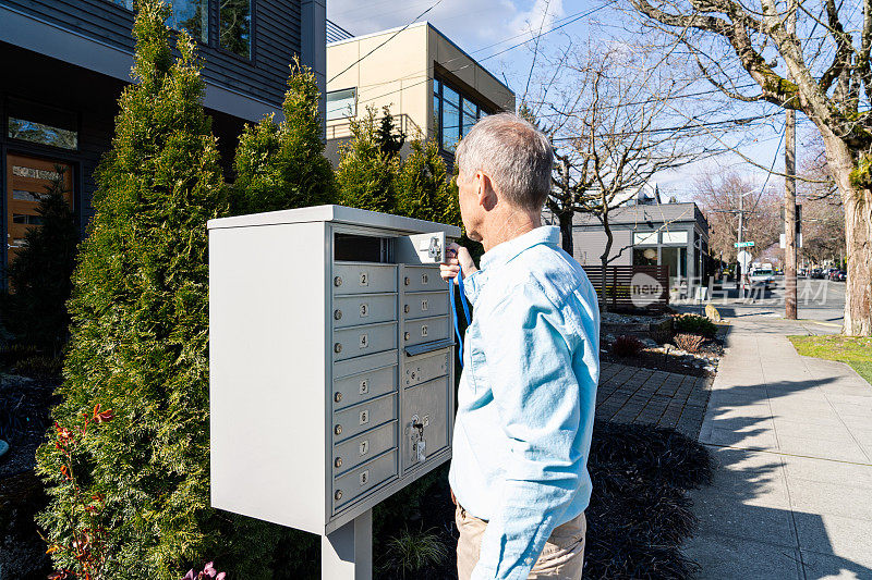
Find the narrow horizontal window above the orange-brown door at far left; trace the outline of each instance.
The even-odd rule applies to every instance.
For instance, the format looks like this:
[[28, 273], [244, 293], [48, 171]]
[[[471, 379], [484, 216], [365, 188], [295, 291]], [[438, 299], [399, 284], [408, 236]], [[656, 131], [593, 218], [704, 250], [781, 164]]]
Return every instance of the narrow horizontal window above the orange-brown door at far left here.
[[9, 100], [7, 136], [60, 149], [78, 149], [75, 113], [17, 99]]

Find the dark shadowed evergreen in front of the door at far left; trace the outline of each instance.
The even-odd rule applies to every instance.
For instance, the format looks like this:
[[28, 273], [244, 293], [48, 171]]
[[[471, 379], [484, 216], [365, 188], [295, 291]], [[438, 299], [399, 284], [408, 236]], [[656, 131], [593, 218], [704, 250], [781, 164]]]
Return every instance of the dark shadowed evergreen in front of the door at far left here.
[[4, 296], [3, 323], [24, 344], [57, 355], [66, 342], [70, 275], [75, 264], [78, 226], [63, 198], [64, 168], [43, 195], [37, 213], [41, 225], [31, 227], [25, 246], [9, 267], [12, 294]]

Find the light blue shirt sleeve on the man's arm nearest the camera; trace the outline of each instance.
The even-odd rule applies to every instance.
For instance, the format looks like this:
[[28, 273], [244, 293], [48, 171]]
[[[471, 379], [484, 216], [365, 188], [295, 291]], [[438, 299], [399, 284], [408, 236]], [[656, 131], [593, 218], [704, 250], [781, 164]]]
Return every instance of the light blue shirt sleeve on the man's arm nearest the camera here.
[[[523, 580], [573, 502], [585, 457], [572, 353], [581, 337], [537, 282], [516, 286], [481, 321], [489, 383], [510, 458], [473, 580]], [[585, 412], [590, 409], [585, 409]]]

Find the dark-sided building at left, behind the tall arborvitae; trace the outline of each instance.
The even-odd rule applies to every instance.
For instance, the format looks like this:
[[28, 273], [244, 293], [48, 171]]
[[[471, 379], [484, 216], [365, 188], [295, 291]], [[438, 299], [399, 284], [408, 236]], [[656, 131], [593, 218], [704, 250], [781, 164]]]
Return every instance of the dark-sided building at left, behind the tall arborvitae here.
[[[59, 173], [82, 231], [92, 217], [94, 170], [131, 83], [132, 8], [133, 0], [0, 3], [0, 266], [24, 229], [38, 226], [34, 194]], [[169, 24], [190, 32], [205, 60], [205, 107], [228, 173], [243, 124], [280, 112], [294, 55], [325, 87], [323, 0], [177, 0]]]

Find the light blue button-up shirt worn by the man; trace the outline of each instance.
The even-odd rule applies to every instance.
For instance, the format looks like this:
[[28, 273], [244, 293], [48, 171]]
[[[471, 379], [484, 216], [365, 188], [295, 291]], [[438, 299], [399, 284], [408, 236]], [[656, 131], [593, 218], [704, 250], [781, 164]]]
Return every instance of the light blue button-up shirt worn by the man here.
[[591, 498], [600, 310], [581, 266], [538, 227], [463, 280], [463, 345], [449, 481], [488, 521], [473, 580], [522, 580], [557, 526]]

